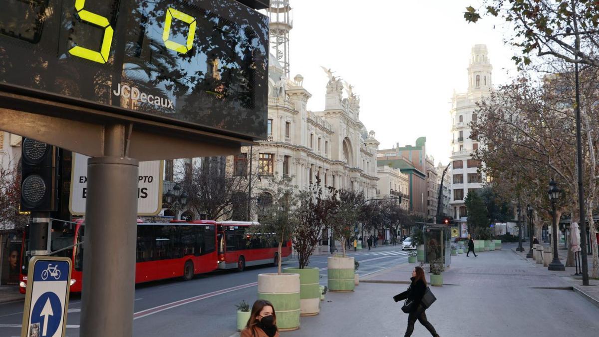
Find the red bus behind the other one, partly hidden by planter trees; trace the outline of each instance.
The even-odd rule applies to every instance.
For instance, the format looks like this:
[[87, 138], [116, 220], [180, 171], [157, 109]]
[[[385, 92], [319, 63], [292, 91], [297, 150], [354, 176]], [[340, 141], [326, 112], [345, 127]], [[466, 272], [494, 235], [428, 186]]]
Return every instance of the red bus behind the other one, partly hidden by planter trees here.
[[[279, 243], [276, 240], [267, 242], [247, 235], [246, 229], [252, 225], [258, 225], [258, 222], [221, 221], [217, 223], [219, 269], [237, 269], [241, 272], [247, 266], [279, 263]], [[290, 257], [291, 240], [281, 247], [281, 260], [287, 261]]]

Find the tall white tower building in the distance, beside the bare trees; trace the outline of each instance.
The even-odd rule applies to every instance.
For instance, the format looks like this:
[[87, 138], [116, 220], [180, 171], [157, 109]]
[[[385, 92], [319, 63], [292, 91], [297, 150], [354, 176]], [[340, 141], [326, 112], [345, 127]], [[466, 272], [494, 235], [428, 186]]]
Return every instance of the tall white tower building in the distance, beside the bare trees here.
[[467, 220], [464, 198], [468, 192], [482, 188], [485, 179], [479, 170], [479, 161], [472, 159], [474, 151], [483, 145], [470, 137], [470, 123], [477, 121], [476, 103], [491, 95], [492, 69], [486, 46], [476, 44], [472, 47], [468, 66], [468, 91], [463, 94], [454, 93], [452, 97], [450, 215], [461, 222], [462, 235]]

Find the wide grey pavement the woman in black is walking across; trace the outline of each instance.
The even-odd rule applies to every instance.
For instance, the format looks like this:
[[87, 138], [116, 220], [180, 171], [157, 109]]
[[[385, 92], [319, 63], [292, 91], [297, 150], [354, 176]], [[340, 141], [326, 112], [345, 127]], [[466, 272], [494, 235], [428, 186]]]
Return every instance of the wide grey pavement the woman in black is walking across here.
[[[427, 309], [440, 336], [596, 336], [599, 308], [575, 294], [572, 282], [525, 261], [505, 244], [501, 251], [452, 256], [437, 302]], [[301, 317], [299, 330], [282, 336], [403, 336], [407, 315], [392, 296], [406, 290], [416, 264], [398, 264], [361, 279], [351, 293], [327, 293], [320, 314]], [[428, 276], [428, 266], [425, 266]], [[235, 335], [233, 335], [235, 336]], [[237, 334], [238, 336], [238, 334]], [[416, 323], [412, 336], [430, 336]]]

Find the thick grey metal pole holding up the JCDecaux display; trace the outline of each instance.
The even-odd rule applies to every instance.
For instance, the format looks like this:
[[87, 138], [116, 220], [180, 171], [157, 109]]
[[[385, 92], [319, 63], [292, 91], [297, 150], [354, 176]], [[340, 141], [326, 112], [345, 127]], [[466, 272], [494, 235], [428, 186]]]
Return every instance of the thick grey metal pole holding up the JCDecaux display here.
[[133, 335], [138, 161], [125, 127], [105, 129], [105, 157], [87, 161], [80, 336]]

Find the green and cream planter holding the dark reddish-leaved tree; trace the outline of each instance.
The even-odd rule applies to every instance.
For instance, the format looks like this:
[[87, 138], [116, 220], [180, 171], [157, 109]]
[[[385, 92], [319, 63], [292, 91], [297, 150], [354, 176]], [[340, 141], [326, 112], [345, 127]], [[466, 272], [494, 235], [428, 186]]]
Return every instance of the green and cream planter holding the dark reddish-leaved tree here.
[[299, 274], [299, 308], [302, 316], [314, 316], [320, 312], [320, 270], [318, 267], [285, 267], [285, 273]]

